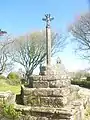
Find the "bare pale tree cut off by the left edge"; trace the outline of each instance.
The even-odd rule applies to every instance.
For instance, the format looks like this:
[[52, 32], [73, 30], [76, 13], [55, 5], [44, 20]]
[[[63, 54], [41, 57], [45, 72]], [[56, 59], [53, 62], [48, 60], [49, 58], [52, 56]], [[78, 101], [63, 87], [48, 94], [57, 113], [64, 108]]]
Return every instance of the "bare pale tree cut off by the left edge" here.
[[0, 74], [11, 69], [9, 59], [11, 39], [9, 36], [2, 37], [0, 40]]

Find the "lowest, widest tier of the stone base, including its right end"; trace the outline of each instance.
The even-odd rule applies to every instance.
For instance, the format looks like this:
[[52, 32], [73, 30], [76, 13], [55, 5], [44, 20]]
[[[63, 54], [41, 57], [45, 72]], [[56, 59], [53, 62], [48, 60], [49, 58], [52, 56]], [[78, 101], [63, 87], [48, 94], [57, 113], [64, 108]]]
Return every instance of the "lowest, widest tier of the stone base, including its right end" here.
[[23, 111], [25, 120], [82, 120], [84, 113], [80, 102], [63, 108], [16, 105], [15, 109]]

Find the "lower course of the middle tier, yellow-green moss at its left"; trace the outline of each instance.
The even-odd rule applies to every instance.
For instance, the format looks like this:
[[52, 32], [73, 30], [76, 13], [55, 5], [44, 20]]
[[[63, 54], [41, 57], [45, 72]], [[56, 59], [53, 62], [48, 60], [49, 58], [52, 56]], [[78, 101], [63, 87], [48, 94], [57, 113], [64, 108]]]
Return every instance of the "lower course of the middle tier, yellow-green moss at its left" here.
[[24, 96], [24, 104], [30, 106], [62, 107], [66, 105], [67, 102], [67, 97]]

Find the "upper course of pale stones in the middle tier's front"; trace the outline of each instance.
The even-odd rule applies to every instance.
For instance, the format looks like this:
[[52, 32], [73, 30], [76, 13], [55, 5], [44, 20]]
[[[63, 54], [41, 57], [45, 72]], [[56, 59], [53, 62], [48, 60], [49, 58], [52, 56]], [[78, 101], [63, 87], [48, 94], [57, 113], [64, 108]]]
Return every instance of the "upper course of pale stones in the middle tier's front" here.
[[70, 94], [70, 88], [25, 88], [23, 92], [25, 96], [62, 97]]

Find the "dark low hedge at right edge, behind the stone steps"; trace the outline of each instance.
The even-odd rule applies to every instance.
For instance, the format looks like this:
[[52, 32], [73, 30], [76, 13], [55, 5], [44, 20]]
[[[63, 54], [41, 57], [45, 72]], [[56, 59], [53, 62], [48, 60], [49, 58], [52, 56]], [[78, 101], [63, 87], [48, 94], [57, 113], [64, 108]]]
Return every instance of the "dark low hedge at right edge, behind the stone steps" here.
[[79, 81], [79, 80], [72, 80], [71, 84], [79, 85], [80, 87], [90, 88], [90, 81]]

